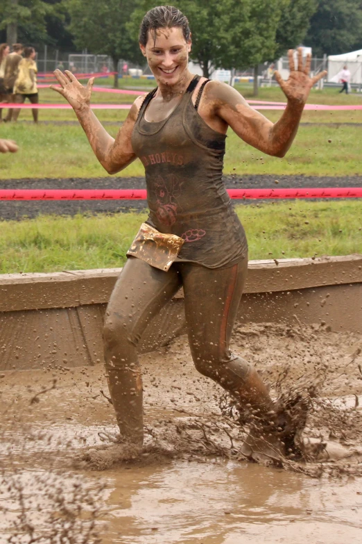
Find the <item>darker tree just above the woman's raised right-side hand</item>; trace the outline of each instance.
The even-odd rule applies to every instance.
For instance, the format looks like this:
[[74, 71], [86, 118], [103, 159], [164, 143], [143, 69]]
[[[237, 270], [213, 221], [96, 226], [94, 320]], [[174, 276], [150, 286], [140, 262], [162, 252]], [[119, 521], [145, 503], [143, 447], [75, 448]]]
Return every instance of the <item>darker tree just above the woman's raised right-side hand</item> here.
[[[282, 16], [277, 25], [275, 54], [267, 60], [275, 60], [284, 55], [288, 49], [295, 49], [302, 43], [307, 34], [310, 19], [317, 8], [318, 0], [291, 0], [288, 8], [282, 10]], [[309, 45], [308, 40], [306, 45]]]

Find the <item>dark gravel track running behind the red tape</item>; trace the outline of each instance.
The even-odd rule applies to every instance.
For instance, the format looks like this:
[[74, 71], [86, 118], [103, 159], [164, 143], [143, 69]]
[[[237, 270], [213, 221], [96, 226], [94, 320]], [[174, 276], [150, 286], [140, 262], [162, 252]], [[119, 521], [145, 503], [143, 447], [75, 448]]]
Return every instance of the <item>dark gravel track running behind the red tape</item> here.
[[[315, 176], [268, 176], [230, 175], [224, 176], [227, 188], [320, 188], [320, 187], [361, 187], [361, 176], [315, 177]], [[144, 189], [143, 177], [69, 178], [69, 179], [1, 179], [0, 189]], [[235, 201], [248, 206], [257, 200]], [[0, 201], [0, 220], [21, 220], [40, 214], [74, 215], [76, 213], [117, 213], [139, 211], [146, 208], [146, 201]]]

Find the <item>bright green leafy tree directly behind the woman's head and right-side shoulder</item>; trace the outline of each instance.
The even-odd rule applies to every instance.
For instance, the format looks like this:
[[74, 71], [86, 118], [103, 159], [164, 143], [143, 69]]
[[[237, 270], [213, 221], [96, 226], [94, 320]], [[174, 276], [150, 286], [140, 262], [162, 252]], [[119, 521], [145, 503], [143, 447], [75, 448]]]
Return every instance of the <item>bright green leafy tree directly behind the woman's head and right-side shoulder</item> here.
[[[289, 1], [175, 0], [173, 5], [189, 19], [190, 58], [209, 77], [217, 68], [244, 69], [273, 56], [277, 23]], [[139, 0], [133, 21], [139, 25], [153, 6], [153, 1]]]

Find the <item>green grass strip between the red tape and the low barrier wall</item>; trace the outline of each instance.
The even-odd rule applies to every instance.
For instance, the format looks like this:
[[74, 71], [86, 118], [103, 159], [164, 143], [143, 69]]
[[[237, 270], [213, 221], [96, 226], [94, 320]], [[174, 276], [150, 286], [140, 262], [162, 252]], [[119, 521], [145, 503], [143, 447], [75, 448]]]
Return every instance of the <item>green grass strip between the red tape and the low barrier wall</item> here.
[[[238, 206], [250, 259], [362, 253], [359, 201]], [[121, 267], [146, 213], [3, 221], [0, 273]]]

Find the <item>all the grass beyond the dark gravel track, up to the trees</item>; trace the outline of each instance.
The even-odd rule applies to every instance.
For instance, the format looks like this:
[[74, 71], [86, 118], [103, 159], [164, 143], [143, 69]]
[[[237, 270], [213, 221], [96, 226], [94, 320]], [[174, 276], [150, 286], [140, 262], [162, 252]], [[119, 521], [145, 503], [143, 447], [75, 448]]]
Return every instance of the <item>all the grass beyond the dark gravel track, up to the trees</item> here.
[[[98, 80], [101, 84], [107, 80]], [[123, 87], [152, 88], [153, 81], [121, 79]], [[238, 87], [238, 85], [236, 85]], [[250, 87], [239, 85], [239, 90], [246, 97]], [[133, 101], [129, 94], [111, 94], [94, 92], [94, 103], [124, 103]], [[283, 101], [284, 95], [279, 88], [261, 88], [259, 99]], [[40, 101], [43, 103], [62, 103], [60, 94], [50, 89], [40, 89]], [[362, 95], [338, 94], [335, 89], [324, 91], [312, 90], [310, 103], [320, 104], [361, 104]], [[264, 114], [273, 122], [279, 119], [280, 111], [265, 111]], [[107, 131], [114, 137], [126, 118], [126, 110], [97, 110], [96, 115], [107, 125]], [[20, 119], [31, 119], [31, 111], [21, 112]], [[1, 124], [1, 137], [12, 138], [20, 146], [16, 155], [0, 156], [0, 179], [19, 179], [26, 177], [95, 177], [107, 176], [107, 172], [98, 164], [92, 153], [83, 130], [76, 121], [73, 110], [41, 110], [40, 119], [47, 124], [34, 126], [32, 123]], [[57, 124], [54, 121], [74, 121], [74, 124]], [[230, 131], [227, 138], [225, 155], [225, 173], [236, 174], [306, 174], [314, 176], [343, 176], [361, 174], [361, 131], [362, 111], [334, 111], [304, 113], [302, 122], [309, 126], [300, 126], [298, 135], [286, 157], [266, 156], [252, 147], [245, 145]], [[353, 123], [356, 126], [340, 125]], [[328, 142], [331, 140], [331, 142]], [[144, 168], [137, 160], [121, 176], [143, 176]]]

